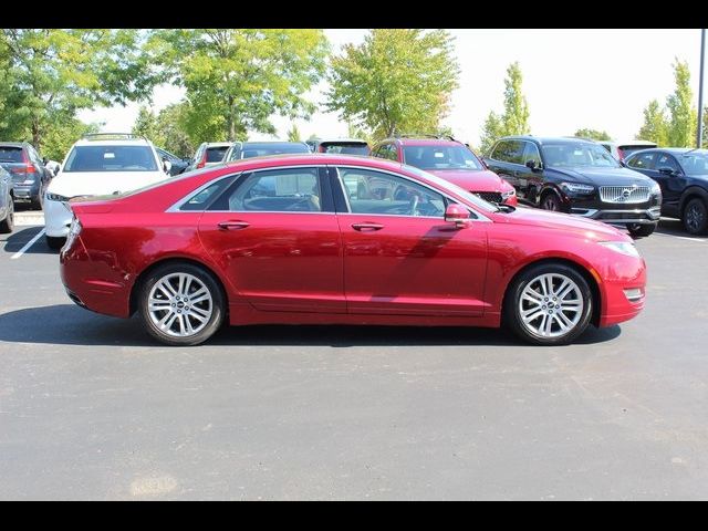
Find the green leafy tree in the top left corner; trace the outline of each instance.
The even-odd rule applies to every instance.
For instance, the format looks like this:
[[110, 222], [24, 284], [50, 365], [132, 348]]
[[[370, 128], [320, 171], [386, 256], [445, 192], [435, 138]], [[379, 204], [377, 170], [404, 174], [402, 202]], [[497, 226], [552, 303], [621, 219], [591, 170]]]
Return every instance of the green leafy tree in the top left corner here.
[[58, 116], [148, 97], [156, 81], [131, 29], [2, 29], [0, 63], [0, 134], [40, 149]]

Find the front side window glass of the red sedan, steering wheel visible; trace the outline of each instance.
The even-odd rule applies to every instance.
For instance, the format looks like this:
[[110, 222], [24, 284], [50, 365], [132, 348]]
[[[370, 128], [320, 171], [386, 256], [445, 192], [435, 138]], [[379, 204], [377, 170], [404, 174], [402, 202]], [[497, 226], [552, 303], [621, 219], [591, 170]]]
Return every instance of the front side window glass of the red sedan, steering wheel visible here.
[[352, 214], [442, 217], [445, 198], [424, 186], [391, 174], [340, 168]]

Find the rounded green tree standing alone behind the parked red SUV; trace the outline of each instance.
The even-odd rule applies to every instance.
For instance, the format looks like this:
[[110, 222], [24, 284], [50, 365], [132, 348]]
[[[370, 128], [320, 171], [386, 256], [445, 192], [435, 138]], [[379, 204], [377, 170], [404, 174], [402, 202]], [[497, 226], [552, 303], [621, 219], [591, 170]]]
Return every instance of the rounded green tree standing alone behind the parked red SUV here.
[[452, 38], [444, 30], [371, 30], [331, 63], [326, 108], [375, 138], [437, 131], [458, 87]]

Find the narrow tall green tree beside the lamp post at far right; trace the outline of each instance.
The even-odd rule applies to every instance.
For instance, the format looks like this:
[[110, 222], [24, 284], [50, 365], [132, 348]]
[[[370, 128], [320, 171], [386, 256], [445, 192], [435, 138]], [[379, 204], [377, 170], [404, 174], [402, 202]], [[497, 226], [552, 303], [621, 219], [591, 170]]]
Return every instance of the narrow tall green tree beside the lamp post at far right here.
[[686, 61], [674, 63], [676, 88], [666, 100], [668, 124], [666, 139], [671, 147], [693, 146], [697, 127], [697, 112], [693, 106], [694, 93], [690, 90], [690, 71]]

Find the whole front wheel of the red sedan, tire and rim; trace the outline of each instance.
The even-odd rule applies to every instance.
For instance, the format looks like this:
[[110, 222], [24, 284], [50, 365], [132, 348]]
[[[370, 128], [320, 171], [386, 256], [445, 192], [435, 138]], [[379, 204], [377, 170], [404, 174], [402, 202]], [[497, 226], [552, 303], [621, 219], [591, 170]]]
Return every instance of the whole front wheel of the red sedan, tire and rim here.
[[504, 320], [529, 343], [563, 345], [587, 329], [592, 310], [593, 295], [583, 275], [551, 262], [514, 279], [504, 301]]

